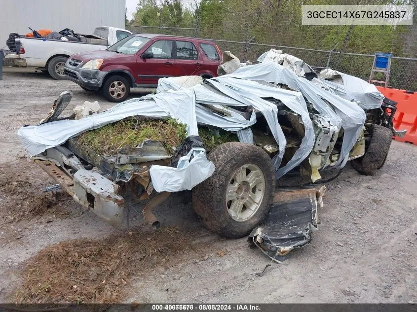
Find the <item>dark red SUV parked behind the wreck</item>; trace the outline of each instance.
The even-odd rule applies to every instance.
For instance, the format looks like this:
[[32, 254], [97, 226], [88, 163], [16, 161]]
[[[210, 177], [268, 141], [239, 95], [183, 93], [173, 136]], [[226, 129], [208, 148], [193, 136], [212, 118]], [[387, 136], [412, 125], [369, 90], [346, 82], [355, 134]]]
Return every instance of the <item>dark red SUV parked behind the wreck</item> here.
[[218, 46], [210, 40], [137, 34], [107, 50], [72, 55], [65, 74], [84, 90], [100, 90], [107, 100], [122, 102], [130, 88], [156, 88], [162, 77], [214, 77], [220, 56]]

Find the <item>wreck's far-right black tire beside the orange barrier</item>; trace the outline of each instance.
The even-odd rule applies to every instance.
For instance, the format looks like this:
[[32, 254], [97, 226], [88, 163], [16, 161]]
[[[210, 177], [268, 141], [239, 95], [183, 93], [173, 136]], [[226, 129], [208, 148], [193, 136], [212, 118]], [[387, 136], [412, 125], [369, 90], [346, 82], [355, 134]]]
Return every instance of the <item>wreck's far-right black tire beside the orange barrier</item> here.
[[392, 131], [379, 125], [369, 125], [366, 129], [371, 134], [371, 141], [365, 155], [350, 163], [357, 172], [373, 175], [385, 164], [391, 146]]

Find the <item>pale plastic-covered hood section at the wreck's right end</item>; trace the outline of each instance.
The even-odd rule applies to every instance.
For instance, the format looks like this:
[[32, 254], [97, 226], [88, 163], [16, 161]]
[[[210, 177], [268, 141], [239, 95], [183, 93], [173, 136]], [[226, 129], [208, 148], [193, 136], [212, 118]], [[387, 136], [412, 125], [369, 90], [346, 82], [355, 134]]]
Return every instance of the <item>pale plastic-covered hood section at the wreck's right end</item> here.
[[333, 69], [323, 69], [319, 73], [319, 81], [335, 92], [338, 96], [348, 101], [356, 102], [362, 109], [381, 107], [384, 96], [377, 87], [361, 78], [351, 76]]

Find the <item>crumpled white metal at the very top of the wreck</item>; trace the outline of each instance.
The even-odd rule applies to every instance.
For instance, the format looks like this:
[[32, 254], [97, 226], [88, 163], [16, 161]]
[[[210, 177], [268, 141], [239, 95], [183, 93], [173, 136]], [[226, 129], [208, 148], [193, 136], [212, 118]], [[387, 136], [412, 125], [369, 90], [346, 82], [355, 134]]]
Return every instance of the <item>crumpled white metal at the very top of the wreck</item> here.
[[314, 69], [312, 69], [303, 60], [291, 54], [282, 53], [281, 50], [270, 49], [269, 51], [262, 54], [257, 61], [259, 63], [277, 63], [287, 69], [290, 69], [299, 77], [312, 78], [317, 76]]

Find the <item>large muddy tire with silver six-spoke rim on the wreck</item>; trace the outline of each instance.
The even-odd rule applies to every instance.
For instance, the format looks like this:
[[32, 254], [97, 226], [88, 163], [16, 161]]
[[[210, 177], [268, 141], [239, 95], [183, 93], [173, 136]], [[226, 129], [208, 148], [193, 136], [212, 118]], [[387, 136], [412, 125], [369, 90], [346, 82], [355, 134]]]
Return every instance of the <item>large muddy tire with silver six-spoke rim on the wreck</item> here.
[[207, 158], [216, 170], [192, 190], [192, 206], [204, 225], [225, 238], [248, 235], [265, 220], [275, 190], [266, 152], [255, 145], [228, 142]]

